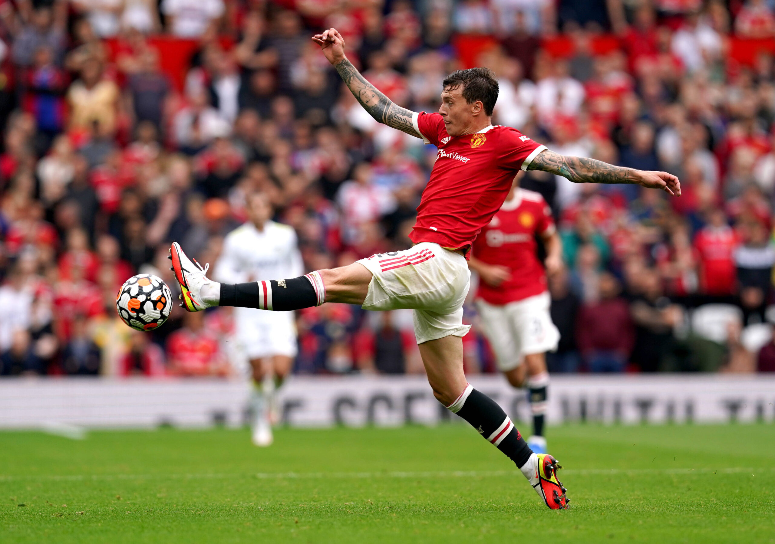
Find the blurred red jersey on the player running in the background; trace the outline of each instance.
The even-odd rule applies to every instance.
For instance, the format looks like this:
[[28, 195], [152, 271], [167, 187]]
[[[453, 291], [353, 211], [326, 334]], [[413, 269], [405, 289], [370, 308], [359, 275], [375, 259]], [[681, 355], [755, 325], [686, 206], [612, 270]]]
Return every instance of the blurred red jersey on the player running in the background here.
[[500, 264], [512, 277], [498, 287], [479, 282], [477, 297], [494, 305], [521, 301], [546, 291], [546, 272], [536, 254], [536, 234], [555, 231], [552, 210], [539, 193], [517, 189], [505, 201], [474, 242], [474, 257], [483, 263]]

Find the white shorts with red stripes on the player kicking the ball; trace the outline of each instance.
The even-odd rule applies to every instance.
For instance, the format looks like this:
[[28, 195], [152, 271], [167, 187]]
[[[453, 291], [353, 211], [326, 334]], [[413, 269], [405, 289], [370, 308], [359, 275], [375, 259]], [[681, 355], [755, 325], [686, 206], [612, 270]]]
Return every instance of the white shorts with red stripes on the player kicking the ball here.
[[444, 336], [466, 336], [463, 301], [470, 272], [466, 258], [437, 243], [404, 251], [377, 253], [357, 261], [374, 274], [364, 310], [414, 310], [418, 344]]

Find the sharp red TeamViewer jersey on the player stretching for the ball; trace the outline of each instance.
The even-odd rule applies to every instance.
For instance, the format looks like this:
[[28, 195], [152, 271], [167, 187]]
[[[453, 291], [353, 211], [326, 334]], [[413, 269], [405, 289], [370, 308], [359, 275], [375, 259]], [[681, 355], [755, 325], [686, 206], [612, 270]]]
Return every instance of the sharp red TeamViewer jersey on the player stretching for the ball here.
[[415, 113], [412, 122], [425, 143], [439, 150], [409, 238], [469, 250], [503, 204], [517, 172], [527, 170], [546, 146], [509, 126], [449, 136], [438, 113]]

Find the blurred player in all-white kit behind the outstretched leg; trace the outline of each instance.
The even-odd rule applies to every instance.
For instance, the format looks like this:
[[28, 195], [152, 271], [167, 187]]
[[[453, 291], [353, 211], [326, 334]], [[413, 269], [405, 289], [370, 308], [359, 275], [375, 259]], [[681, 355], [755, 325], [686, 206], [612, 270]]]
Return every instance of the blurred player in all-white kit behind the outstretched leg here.
[[[226, 283], [295, 277], [304, 265], [296, 232], [290, 226], [271, 221], [272, 206], [267, 195], [247, 195], [248, 221], [232, 230], [223, 242], [215, 264], [215, 278]], [[257, 308], [234, 308], [236, 341], [250, 361], [253, 391], [250, 408], [253, 443], [272, 443], [271, 424], [276, 422], [277, 389], [291, 372], [297, 353], [294, 312], [269, 312]], [[275, 420], [275, 421], [273, 421]]]

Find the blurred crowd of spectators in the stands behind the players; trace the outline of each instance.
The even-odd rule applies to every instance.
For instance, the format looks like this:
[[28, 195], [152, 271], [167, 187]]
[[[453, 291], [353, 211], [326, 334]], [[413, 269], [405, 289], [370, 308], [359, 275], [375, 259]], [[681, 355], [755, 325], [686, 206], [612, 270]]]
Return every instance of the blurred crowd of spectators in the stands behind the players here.
[[[239, 372], [229, 308], [153, 333], [129, 276], [174, 289], [167, 249], [213, 263], [267, 193], [305, 267], [405, 249], [435, 149], [377, 124], [309, 36], [438, 108], [459, 67], [498, 75], [494, 123], [550, 149], [667, 170], [681, 198], [532, 171], [566, 270], [550, 369], [775, 370], [772, 0], [0, 0], [0, 369]], [[472, 294], [474, 289], [471, 290]], [[470, 373], [494, 371], [474, 324]], [[411, 314], [298, 312], [300, 373], [422, 372]]]

